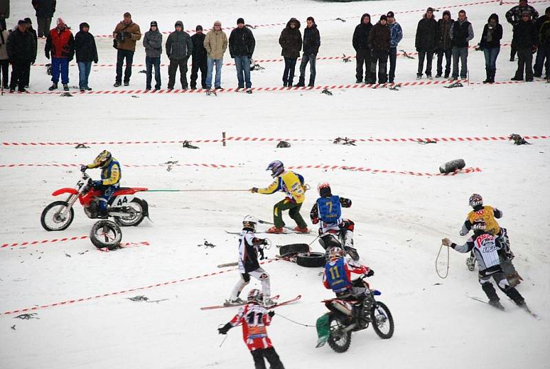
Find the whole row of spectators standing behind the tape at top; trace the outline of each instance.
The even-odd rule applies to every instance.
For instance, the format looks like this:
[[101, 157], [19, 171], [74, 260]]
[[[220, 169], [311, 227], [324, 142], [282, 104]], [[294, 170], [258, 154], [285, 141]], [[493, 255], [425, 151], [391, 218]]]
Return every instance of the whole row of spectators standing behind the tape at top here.
[[[14, 92], [27, 92], [30, 81], [30, 67], [36, 61], [38, 39], [46, 38], [44, 54], [51, 59], [52, 85], [50, 91], [58, 89], [61, 84], [69, 90], [69, 62], [76, 56], [78, 65], [78, 87], [81, 92], [91, 90], [89, 74], [92, 63], [98, 63], [98, 50], [94, 35], [90, 32], [89, 23], [79, 25], [73, 35], [65, 21], [56, 18], [55, 27], [51, 28], [56, 12], [56, 0], [32, 0], [36, 10], [37, 29], [32, 28], [32, 20], [25, 18], [17, 21], [8, 29], [6, 20], [10, 17], [10, 0], [0, 0], [0, 77], [1, 87]], [[449, 10], [443, 12], [437, 20], [433, 8], [428, 8], [417, 24], [415, 48], [418, 52], [417, 78], [432, 79], [432, 64], [437, 56], [435, 78], [448, 78], [450, 81], [467, 78], [467, 59], [470, 41], [475, 37], [472, 23], [468, 21], [465, 10], [460, 10], [457, 19], [452, 18]], [[533, 81], [533, 77], [550, 79], [550, 7], [542, 16], [527, 0], [520, 0], [517, 6], [505, 14], [506, 21], [513, 30], [510, 61], [517, 55], [518, 68], [512, 81]], [[283, 70], [283, 87], [302, 87], [315, 85], [316, 60], [321, 45], [320, 31], [314, 17], [307, 17], [303, 34], [301, 23], [291, 18], [279, 36], [281, 55], [285, 61]], [[403, 29], [397, 23], [394, 12], [388, 12], [373, 25], [369, 13], [360, 18], [352, 37], [355, 49], [356, 83], [394, 83], [397, 61], [397, 47], [403, 39]], [[160, 89], [162, 72], [160, 61], [164, 52], [168, 57], [168, 89], [175, 87], [179, 70], [179, 83], [182, 89], [197, 89], [199, 72], [200, 88], [221, 89], [221, 70], [223, 55], [229, 49], [236, 67], [237, 87], [252, 93], [250, 70], [252, 56], [256, 47], [254, 34], [243, 18], [236, 21], [236, 28], [230, 36], [221, 28], [221, 22], [215, 21], [212, 29], [204, 32], [201, 25], [195, 27], [195, 34], [190, 36], [184, 30], [184, 23], [176, 21], [173, 32], [170, 32], [163, 43], [163, 34], [156, 21], [151, 21], [147, 32], [142, 34], [140, 26], [134, 23], [129, 12], [124, 13], [113, 30], [113, 48], [117, 52], [114, 87], [128, 86], [132, 75], [132, 63], [138, 41], [142, 40], [145, 50], [146, 89]], [[481, 39], [476, 50], [483, 51], [485, 56], [486, 78], [483, 83], [494, 83], [496, 61], [500, 52], [500, 40], [503, 37], [503, 25], [498, 14], [491, 14], [483, 27]], [[294, 76], [296, 63], [300, 58], [299, 77], [296, 84]], [[536, 53], [533, 65], [533, 54]], [[188, 61], [191, 59], [190, 81], [188, 83]], [[445, 65], [443, 66], [443, 59]], [[389, 60], [389, 70], [388, 70]], [[123, 66], [125, 64], [124, 70]], [[309, 64], [309, 79], [306, 80], [306, 69]], [[11, 65], [11, 76], [8, 73]], [[153, 72], [154, 69], [154, 72]], [[214, 83], [212, 76], [215, 72]], [[153, 86], [153, 74], [155, 85]], [[306, 84], [307, 83], [307, 84]]]

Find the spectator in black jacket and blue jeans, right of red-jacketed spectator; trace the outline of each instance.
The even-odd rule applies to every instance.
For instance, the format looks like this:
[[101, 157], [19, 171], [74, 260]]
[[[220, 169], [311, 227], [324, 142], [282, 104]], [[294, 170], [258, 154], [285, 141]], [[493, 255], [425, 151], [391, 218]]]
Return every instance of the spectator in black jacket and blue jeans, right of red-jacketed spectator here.
[[88, 77], [91, 71], [91, 62], [98, 63], [98, 48], [94, 35], [89, 32], [90, 25], [86, 22], [78, 26], [80, 31], [74, 36], [74, 50], [76, 51], [76, 64], [78, 65], [78, 87], [80, 92], [91, 91], [88, 85]]

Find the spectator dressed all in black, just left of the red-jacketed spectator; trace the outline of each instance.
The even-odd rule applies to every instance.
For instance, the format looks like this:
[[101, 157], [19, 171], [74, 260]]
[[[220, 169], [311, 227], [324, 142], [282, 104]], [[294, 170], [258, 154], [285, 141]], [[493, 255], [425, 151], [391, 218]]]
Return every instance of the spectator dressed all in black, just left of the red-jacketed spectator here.
[[13, 71], [10, 92], [14, 92], [17, 86], [19, 86], [19, 92], [27, 92], [25, 81], [30, 72], [30, 65], [36, 60], [36, 47], [34, 37], [27, 32], [27, 22], [23, 19], [17, 22], [17, 29], [8, 36], [6, 48]]

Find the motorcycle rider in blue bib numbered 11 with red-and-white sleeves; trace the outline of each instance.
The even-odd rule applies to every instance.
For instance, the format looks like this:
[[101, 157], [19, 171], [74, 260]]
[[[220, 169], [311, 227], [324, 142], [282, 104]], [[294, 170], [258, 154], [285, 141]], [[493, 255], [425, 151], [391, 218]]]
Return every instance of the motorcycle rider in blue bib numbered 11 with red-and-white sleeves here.
[[322, 283], [325, 285], [325, 288], [331, 289], [336, 293], [336, 297], [339, 299], [355, 300], [361, 302], [361, 304], [353, 304], [352, 310], [349, 310], [347, 306], [338, 304], [337, 302], [328, 302], [327, 308], [329, 310], [336, 308], [341, 313], [355, 319], [362, 316], [362, 309], [369, 310], [373, 301], [369, 298], [369, 288], [364, 286], [361, 280], [351, 280], [351, 273], [364, 274], [366, 277], [374, 275], [374, 271], [368, 266], [358, 264], [354, 260], [344, 257], [344, 250], [342, 248], [333, 247], [330, 249], [329, 261], [325, 264]]

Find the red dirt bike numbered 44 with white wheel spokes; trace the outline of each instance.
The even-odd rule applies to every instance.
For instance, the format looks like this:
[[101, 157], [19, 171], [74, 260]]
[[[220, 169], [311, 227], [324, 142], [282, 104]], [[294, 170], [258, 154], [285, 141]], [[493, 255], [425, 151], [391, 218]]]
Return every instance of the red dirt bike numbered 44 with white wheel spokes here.
[[[107, 214], [113, 217], [120, 226], [137, 226], [144, 217], [148, 217], [148, 204], [145, 200], [135, 198], [134, 194], [147, 191], [144, 187], [120, 187], [107, 203]], [[71, 225], [74, 219], [73, 205], [76, 200], [84, 207], [88, 218], [99, 217], [99, 201], [101, 191], [92, 186], [91, 178], [82, 173], [82, 179], [76, 182], [74, 188], [65, 187], [52, 193], [52, 196], [68, 193], [65, 201], [54, 201], [42, 211], [40, 222], [46, 231], [63, 231]]]

